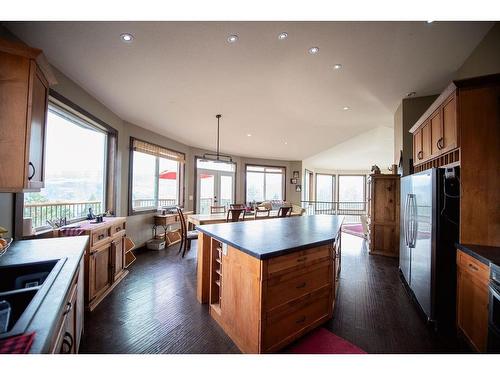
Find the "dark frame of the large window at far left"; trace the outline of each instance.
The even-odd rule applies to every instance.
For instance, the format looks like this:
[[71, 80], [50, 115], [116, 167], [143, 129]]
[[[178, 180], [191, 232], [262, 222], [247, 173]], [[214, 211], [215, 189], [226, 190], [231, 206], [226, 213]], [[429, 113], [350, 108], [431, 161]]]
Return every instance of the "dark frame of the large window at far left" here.
[[[59, 94], [54, 89], [49, 89], [48, 105], [58, 107], [60, 110], [67, 111], [70, 115], [78, 117], [90, 126], [106, 133], [106, 150], [104, 160], [104, 211], [110, 211], [116, 215], [116, 179], [117, 179], [117, 158], [118, 158], [118, 130], [75, 104], [65, 96]], [[48, 113], [48, 108], [47, 108]], [[52, 233], [50, 227], [40, 227], [34, 235], [23, 235], [24, 219], [24, 192], [16, 193], [14, 196], [14, 239], [33, 238]], [[85, 217], [75, 218], [69, 223], [75, 223], [85, 220]]]

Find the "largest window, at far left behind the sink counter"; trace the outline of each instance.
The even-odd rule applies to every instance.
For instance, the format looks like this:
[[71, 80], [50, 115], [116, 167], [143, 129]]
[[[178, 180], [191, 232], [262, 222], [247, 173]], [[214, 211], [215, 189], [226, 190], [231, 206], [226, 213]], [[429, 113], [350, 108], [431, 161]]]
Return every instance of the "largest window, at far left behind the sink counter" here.
[[51, 102], [47, 115], [45, 187], [25, 193], [23, 218], [35, 229], [48, 222], [106, 211], [108, 133], [92, 120]]

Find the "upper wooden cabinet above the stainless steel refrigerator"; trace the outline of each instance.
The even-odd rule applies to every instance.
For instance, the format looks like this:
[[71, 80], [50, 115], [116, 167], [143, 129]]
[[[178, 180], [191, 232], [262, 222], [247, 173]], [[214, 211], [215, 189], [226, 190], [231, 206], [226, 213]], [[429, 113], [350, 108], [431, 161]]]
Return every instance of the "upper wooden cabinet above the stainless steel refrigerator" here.
[[410, 129], [413, 163], [420, 165], [459, 147], [456, 90], [449, 87]]

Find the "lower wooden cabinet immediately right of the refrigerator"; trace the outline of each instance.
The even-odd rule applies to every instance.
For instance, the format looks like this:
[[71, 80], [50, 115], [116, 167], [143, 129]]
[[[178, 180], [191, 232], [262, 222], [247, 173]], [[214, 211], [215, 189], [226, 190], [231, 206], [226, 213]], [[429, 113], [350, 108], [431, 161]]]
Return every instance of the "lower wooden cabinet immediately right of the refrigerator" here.
[[457, 326], [471, 346], [486, 351], [489, 267], [457, 252]]

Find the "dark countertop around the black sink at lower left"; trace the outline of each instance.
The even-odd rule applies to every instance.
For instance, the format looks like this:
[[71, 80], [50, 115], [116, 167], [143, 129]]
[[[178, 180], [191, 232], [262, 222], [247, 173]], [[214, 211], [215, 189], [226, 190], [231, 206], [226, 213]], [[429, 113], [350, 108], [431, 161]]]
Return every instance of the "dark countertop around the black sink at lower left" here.
[[56, 325], [64, 309], [71, 281], [76, 274], [87, 242], [88, 236], [14, 241], [7, 252], [0, 257], [0, 266], [66, 258], [26, 329], [26, 332], [36, 333], [30, 353], [49, 351], [51, 338], [57, 329]]

